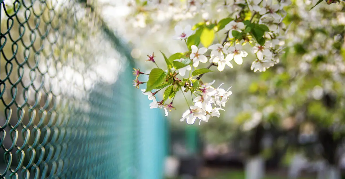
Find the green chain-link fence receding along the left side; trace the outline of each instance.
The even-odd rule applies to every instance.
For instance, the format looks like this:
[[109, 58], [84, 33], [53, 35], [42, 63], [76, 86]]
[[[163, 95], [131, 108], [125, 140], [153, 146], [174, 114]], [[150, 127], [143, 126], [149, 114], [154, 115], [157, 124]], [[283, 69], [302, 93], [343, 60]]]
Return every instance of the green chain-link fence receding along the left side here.
[[164, 121], [94, 2], [0, 5], [0, 178], [161, 178]]

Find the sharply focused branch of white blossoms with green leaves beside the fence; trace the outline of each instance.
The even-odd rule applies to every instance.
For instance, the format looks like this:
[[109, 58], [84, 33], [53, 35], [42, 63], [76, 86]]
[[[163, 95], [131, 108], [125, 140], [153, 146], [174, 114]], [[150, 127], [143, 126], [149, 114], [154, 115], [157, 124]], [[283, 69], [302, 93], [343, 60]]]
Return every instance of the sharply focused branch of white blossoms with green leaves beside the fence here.
[[[150, 108], [164, 109], [166, 116], [168, 111], [174, 109], [172, 102], [176, 92], [181, 90], [184, 96], [189, 91], [192, 97], [195, 96], [193, 105], [189, 105], [185, 98], [188, 110], [183, 113], [181, 121], [186, 119], [188, 124], [193, 124], [197, 118], [200, 122], [207, 122], [211, 116], [219, 117], [219, 110], [224, 110], [222, 107], [225, 106], [232, 92], [229, 91], [230, 88], [227, 91], [220, 86], [214, 88], [211, 86], [214, 82], [204, 83], [200, 78], [205, 73], [211, 72], [210, 68], [213, 66], [216, 66], [218, 71], [223, 71], [226, 66], [233, 68], [232, 60], [237, 65], [242, 65], [244, 58], [248, 56], [248, 49], [244, 47], [246, 44], [252, 45], [249, 51], [255, 56], [251, 66], [254, 72], [265, 71], [278, 63], [279, 55], [283, 52], [282, 41], [286, 32], [286, 26], [282, 23], [286, 15], [283, 7], [288, 3], [288, 1], [272, 0], [234, 1], [233, 4], [237, 4], [238, 8], [233, 9], [227, 18], [218, 22], [205, 21], [184, 27], [176, 25], [175, 35], [172, 38], [184, 41], [188, 51], [172, 54], [169, 58], [162, 53], [166, 70], [158, 67], [154, 54], [148, 55], [146, 61], [153, 62], [157, 68], [147, 74], [148, 81], [140, 82], [136, 78], [134, 85], [139, 88], [140, 84], [146, 83], [146, 90], [142, 92], [152, 100]], [[248, 15], [250, 19], [247, 20]], [[226, 31], [224, 41], [214, 43], [215, 33], [222, 29]], [[198, 47], [200, 43], [203, 47]], [[202, 63], [209, 65], [207, 68], [199, 68]], [[188, 71], [189, 76], [185, 78]], [[139, 69], [135, 70], [135, 76], [138, 77], [140, 74], [144, 73]], [[177, 78], [178, 75], [181, 79]], [[159, 101], [155, 94], [162, 89], [165, 89], [164, 96]], [[153, 90], [156, 91], [152, 92]], [[168, 99], [170, 103], [166, 103]]]

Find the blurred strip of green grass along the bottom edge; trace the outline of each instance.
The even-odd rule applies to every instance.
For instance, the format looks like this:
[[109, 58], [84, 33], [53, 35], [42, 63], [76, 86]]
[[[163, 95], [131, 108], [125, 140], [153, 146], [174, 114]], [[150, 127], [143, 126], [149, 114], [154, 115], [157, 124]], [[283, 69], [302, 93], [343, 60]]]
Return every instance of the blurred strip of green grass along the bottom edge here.
[[[197, 178], [197, 179], [244, 179], [245, 175], [243, 171], [231, 171], [231, 172], [220, 172], [217, 176], [208, 178]], [[180, 178], [169, 178], [169, 179], [180, 179]], [[266, 176], [264, 179], [286, 179], [286, 177], [280, 176]], [[298, 179], [312, 179], [312, 178], [298, 178]]]

